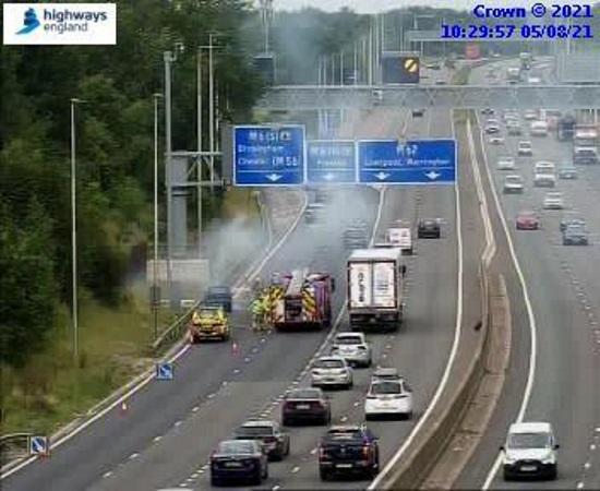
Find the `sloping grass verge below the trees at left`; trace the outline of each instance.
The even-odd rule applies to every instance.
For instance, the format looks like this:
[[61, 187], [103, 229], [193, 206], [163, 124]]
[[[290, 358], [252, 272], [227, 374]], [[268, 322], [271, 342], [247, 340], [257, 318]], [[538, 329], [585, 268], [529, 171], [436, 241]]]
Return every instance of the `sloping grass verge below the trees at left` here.
[[[228, 191], [220, 215], [223, 219], [260, 219], [253, 192]], [[154, 318], [145, 278], [125, 291], [113, 308], [88, 296], [81, 298], [79, 363], [73, 360], [70, 315], [63, 307], [44, 349], [23, 368], [1, 367], [2, 434], [51, 434], [152, 366], [148, 345]], [[160, 311], [159, 326], [165, 328], [173, 318], [170, 311]]]

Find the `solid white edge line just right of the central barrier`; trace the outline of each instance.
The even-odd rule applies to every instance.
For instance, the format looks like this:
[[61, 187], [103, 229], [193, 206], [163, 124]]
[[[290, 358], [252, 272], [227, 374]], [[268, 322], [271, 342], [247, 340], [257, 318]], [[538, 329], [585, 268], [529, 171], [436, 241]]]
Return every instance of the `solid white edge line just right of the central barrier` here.
[[[479, 125], [479, 115], [476, 113], [477, 122]], [[469, 135], [471, 135], [471, 128], [470, 128], [470, 121], [468, 121], [468, 129], [469, 129]], [[506, 224], [506, 218], [504, 216], [504, 212], [502, 209], [502, 205], [500, 203], [500, 199], [497, 197], [497, 192], [495, 189], [494, 180], [492, 178], [492, 172], [490, 171], [490, 165], [488, 163], [488, 154], [485, 152], [485, 145], [483, 143], [483, 136], [481, 132], [479, 133], [479, 140], [481, 142], [481, 148], [483, 149], [483, 164], [485, 167], [485, 171], [488, 173], [488, 180], [490, 181], [490, 189], [492, 191], [492, 195], [494, 196], [494, 202], [496, 206], [496, 211], [500, 217], [500, 221], [502, 223], [502, 227], [504, 228], [504, 233], [506, 236], [506, 240], [508, 242], [508, 250], [511, 252], [511, 259], [513, 260], [513, 264], [515, 265], [515, 270], [517, 272], [517, 276], [519, 278], [520, 288], [523, 290], [523, 297], [525, 301], [525, 307], [527, 308], [527, 318], [529, 321], [529, 332], [530, 332], [530, 338], [531, 338], [531, 345], [530, 345], [530, 355], [529, 355], [529, 369], [527, 372], [527, 383], [525, 386], [525, 394], [523, 396], [523, 402], [519, 408], [519, 412], [517, 415], [517, 421], [521, 422], [523, 418], [525, 417], [525, 411], [527, 410], [527, 406], [529, 405], [529, 399], [531, 397], [531, 391], [533, 388], [533, 382], [536, 380], [536, 360], [538, 357], [538, 337], [537, 337], [537, 325], [536, 325], [536, 316], [533, 315], [533, 307], [531, 306], [531, 300], [529, 298], [529, 290], [527, 289], [527, 285], [525, 283], [525, 275], [523, 274], [523, 270], [520, 268], [519, 261], [517, 259], [517, 254], [515, 252], [515, 246], [513, 244], [513, 240], [511, 238], [511, 232], [508, 230], [508, 225]], [[488, 490], [492, 483], [492, 480], [494, 479], [495, 475], [497, 474], [500, 466], [502, 464], [502, 454], [499, 453], [496, 456], [496, 459], [494, 460], [494, 464], [492, 465], [492, 468], [488, 472], [488, 476], [485, 477], [485, 481], [483, 482], [482, 490]]]

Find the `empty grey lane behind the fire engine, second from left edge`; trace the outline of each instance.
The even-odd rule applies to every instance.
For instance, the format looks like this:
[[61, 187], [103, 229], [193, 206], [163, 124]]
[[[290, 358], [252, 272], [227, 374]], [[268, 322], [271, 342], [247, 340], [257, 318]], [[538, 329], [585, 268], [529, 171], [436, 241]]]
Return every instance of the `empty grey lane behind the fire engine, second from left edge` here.
[[[329, 208], [339, 208], [339, 205], [335, 204], [337, 200], [348, 202], [351, 199], [352, 209], [348, 212], [346, 206], [343, 217], [334, 212], [335, 216], [343, 219], [337, 224], [334, 220], [327, 227], [302, 224], [269, 261], [266, 272], [288, 271], [296, 266], [321, 262], [319, 258], [323, 254], [326, 254], [325, 262], [329, 271], [344, 271], [346, 252], [341, 250], [337, 238], [345, 223], [353, 217], [361, 216], [369, 221], [373, 220], [377, 193], [367, 188], [334, 194], [338, 197]], [[359, 206], [360, 202], [364, 202], [363, 206]], [[337, 240], [332, 240], [332, 237]], [[324, 242], [327, 244], [326, 250], [322, 247]], [[336, 312], [344, 299], [344, 278], [338, 278]], [[269, 336], [263, 344], [264, 347], [260, 348], [256, 358], [235, 378], [226, 379], [228, 384], [221, 385], [219, 393], [209, 399], [209, 404], [199, 406], [196, 411], [189, 414], [179, 426], [169, 429], [159, 442], [151, 442], [142, 452], [136, 452], [134, 458], [124, 459], [125, 465], [121, 464], [111, 469], [112, 474], [92, 489], [148, 489], [178, 484], [180, 480], [189, 479], [193, 475], [197, 477], [218, 440], [228, 436], [230, 431], [249, 416], [260, 414], [265, 402], [280, 396], [283, 388], [302, 370], [324, 336], [325, 333], [286, 333]], [[243, 366], [244, 362], [240, 363]], [[215, 415], [219, 417], [215, 418]], [[178, 455], [177, 462], [172, 460], [175, 454]]]

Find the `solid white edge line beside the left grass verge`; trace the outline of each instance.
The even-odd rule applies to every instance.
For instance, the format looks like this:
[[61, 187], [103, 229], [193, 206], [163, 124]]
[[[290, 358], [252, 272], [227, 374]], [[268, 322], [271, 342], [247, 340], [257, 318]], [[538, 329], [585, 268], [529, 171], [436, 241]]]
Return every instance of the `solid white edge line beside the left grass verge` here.
[[[251, 282], [261, 271], [262, 268], [264, 267], [264, 265], [266, 264], [266, 262], [273, 258], [273, 255], [283, 247], [283, 244], [285, 243], [285, 241], [289, 238], [289, 236], [293, 232], [293, 230], [296, 230], [296, 227], [298, 226], [298, 224], [300, 223], [302, 216], [304, 215], [304, 211], [307, 208], [309, 204], [309, 197], [308, 197], [308, 194], [304, 193], [304, 203], [302, 204], [302, 208], [300, 209], [300, 213], [298, 214], [298, 216], [296, 217], [296, 219], [293, 220], [293, 223], [291, 224], [291, 226], [289, 227], [288, 230], [286, 230], [286, 232], [281, 236], [281, 239], [279, 239], [279, 242], [277, 242], [275, 244], [275, 247], [273, 249], [271, 249], [271, 251], [265, 255], [265, 258], [263, 259], [263, 261], [259, 264], [259, 266], [256, 267], [256, 270], [251, 273], [249, 276], [242, 276], [242, 278], [245, 277], [245, 282]], [[269, 227], [269, 230], [271, 230], [271, 220], [267, 219], [267, 225]], [[272, 236], [272, 232], [269, 231], [269, 236]], [[269, 238], [269, 243], [272, 243], [272, 239]], [[239, 280], [237, 282], [239, 283]], [[243, 282], [242, 282], [243, 283]], [[261, 339], [261, 343], [264, 343], [264, 339]], [[190, 349], [190, 345], [184, 343], [183, 346], [181, 347], [181, 349], [179, 351], [177, 351], [172, 357], [170, 357], [169, 359], [165, 360], [165, 361], [168, 361], [170, 363], [173, 363], [175, 361], [177, 361], [179, 358], [181, 358], [185, 352], [188, 352], [188, 350]], [[145, 373], [142, 373], [139, 375], [139, 379], [140, 379], [140, 382], [136, 383], [135, 382], [135, 379], [134, 381], [132, 382], [132, 387], [124, 394], [122, 395], [121, 397], [119, 397], [117, 400], [115, 400], [112, 404], [110, 404], [109, 406], [107, 406], [106, 408], [104, 408], [103, 410], [100, 410], [99, 412], [97, 412], [96, 415], [94, 415], [92, 418], [89, 418], [87, 421], [84, 421], [81, 426], [79, 426], [77, 428], [73, 429], [71, 432], [67, 433], [64, 436], [53, 441], [51, 444], [50, 444], [50, 450], [55, 450], [57, 448], [58, 446], [62, 445], [63, 443], [65, 443], [67, 441], [71, 440], [73, 436], [77, 435], [79, 433], [81, 433], [83, 430], [85, 430], [87, 427], [89, 427], [92, 423], [94, 423], [95, 421], [97, 421], [98, 419], [103, 418], [104, 416], [106, 416], [108, 412], [110, 412], [112, 409], [115, 409], [117, 406], [119, 406], [121, 403], [123, 403], [124, 400], [129, 399], [132, 395], [136, 394], [137, 392], [140, 392], [144, 386], [146, 386], [148, 383], [151, 383], [152, 381], [154, 381], [155, 379], [155, 369], [152, 368], [149, 370], [147, 370]], [[127, 385], [125, 385], [127, 386]], [[29, 457], [25, 460], [23, 460], [22, 463], [15, 465], [13, 468], [11, 468], [10, 470], [7, 470], [5, 472], [1, 474], [0, 475], [0, 480], [13, 475], [14, 472], [21, 470], [23, 467], [32, 464], [33, 462], [37, 460], [38, 457], [34, 456], [34, 457]]]

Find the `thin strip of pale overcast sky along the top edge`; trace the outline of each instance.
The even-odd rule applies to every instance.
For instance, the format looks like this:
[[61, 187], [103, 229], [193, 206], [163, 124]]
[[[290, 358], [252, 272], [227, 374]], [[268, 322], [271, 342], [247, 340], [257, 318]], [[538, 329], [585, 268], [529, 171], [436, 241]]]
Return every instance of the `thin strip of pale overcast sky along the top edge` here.
[[[454, 8], [457, 10], [472, 9], [477, 4], [487, 7], [527, 7], [539, 0], [273, 0], [276, 10], [297, 10], [302, 7], [335, 12], [343, 7], [348, 7], [355, 12], [384, 12], [409, 5], [428, 5], [439, 8]], [[561, 0], [562, 1], [562, 0]], [[545, 3], [545, 2], [544, 2]]]

